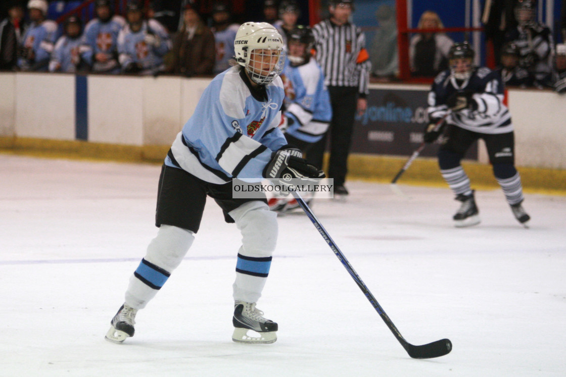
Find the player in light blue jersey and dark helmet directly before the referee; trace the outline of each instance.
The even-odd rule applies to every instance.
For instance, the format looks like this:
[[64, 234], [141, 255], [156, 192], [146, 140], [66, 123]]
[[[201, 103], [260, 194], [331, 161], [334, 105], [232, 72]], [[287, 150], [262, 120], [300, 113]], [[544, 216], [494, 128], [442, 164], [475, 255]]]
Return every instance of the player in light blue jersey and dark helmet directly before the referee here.
[[[324, 85], [324, 73], [315, 59], [311, 58], [314, 37], [310, 28], [298, 26], [288, 33], [288, 57], [281, 73], [285, 88], [284, 121], [280, 125], [289, 144], [298, 146], [306, 154], [313, 143], [319, 141], [328, 130], [332, 119], [332, 106]], [[321, 168], [320, 166], [318, 166]], [[311, 203], [312, 193], [304, 198]], [[269, 208], [286, 212], [299, 207], [290, 196], [275, 195], [269, 199]]]

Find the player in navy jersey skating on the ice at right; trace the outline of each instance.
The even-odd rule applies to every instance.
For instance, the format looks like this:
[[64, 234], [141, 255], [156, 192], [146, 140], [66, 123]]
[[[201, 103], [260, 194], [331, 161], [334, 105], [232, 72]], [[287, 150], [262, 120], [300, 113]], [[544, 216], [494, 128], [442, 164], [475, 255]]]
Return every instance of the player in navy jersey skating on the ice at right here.
[[[474, 141], [482, 138], [496, 180], [514, 216], [526, 224], [530, 216], [521, 203], [524, 200], [521, 177], [514, 166], [514, 134], [511, 113], [503, 103], [504, 86], [499, 72], [474, 66], [474, 50], [468, 44], [456, 43], [449, 52], [449, 70], [436, 76], [428, 93], [428, 117], [431, 123], [424, 141], [435, 141], [441, 133], [438, 163], [444, 180], [456, 200], [462, 202], [453, 216], [457, 227], [478, 224], [479, 210], [470, 179], [460, 164]], [[446, 127], [436, 124], [446, 116]]]

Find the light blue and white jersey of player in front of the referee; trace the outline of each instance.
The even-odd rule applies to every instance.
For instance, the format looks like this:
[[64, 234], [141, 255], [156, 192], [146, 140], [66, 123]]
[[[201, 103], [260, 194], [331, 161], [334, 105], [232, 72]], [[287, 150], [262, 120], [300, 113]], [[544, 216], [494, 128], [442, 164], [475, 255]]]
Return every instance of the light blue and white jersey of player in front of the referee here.
[[281, 79], [285, 88], [285, 115], [290, 124], [285, 132], [309, 143], [319, 141], [332, 119], [330, 96], [320, 66], [311, 58], [308, 63], [293, 67], [288, 59]]

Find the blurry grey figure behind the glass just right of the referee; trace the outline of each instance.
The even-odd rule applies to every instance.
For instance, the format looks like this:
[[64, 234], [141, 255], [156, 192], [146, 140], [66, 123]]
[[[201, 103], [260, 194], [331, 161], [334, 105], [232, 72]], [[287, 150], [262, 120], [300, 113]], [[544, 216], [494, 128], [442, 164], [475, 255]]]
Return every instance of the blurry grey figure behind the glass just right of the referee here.
[[370, 47], [371, 73], [376, 77], [395, 77], [399, 73], [395, 8], [382, 4], [375, 17], [379, 28]]

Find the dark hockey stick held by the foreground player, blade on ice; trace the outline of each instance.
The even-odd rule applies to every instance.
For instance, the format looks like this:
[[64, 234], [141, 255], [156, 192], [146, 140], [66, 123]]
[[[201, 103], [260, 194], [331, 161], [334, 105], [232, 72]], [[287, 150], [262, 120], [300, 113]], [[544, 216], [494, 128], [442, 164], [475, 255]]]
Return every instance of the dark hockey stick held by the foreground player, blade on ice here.
[[370, 290], [367, 289], [366, 284], [363, 283], [358, 273], [354, 271], [354, 268], [350, 265], [348, 259], [346, 259], [344, 254], [342, 254], [340, 249], [338, 249], [338, 246], [336, 246], [330, 235], [328, 235], [326, 229], [324, 229], [322, 224], [320, 224], [319, 220], [316, 218], [312, 210], [308, 207], [305, 200], [303, 200], [303, 198], [299, 195], [299, 193], [295, 191], [291, 191], [291, 194], [293, 194], [293, 197], [295, 198], [295, 200], [297, 200], [299, 206], [301, 206], [303, 211], [305, 211], [305, 214], [308, 216], [308, 218], [311, 219], [311, 222], [314, 224], [316, 230], [319, 231], [320, 235], [327, 242], [328, 246], [330, 246], [332, 251], [336, 254], [336, 257], [340, 259], [340, 262], [342, 262], [342, 265], [344, 265], [346, 270], [348, 270], [352, 279], [354, 279], [355, 283], [358, 284], [359, 289], [362, 290], [367, 300], [370, 301], [370, 304], [378, 312], [378, 314], [381, 316], [381, 319], [383, 319], [385, 324], [387, 324], [389, 330], [391, 330], [393, 335], [395, 335], [399, 343], [401, 343], [403, 348], [405, 348], [406, 352], [409, 354], [410, 357], [415, 359], [428, 359], [433, 357], [444, 356], [445, 354], [448, 354], [452, 350], [452, 342], [448, 339], [441, 339], [423, 345], [413, 345], [410, 344], [408, 341], [406, 341], [405, 338], [399, 332], [399, 330], [397, 330], [397, 327], [395, 327], [395, 324], [391, 322], [391, 319], [389, 319], [389, 316], [385, 313], [381, 305], [379, 305], [378, 300], [376, 300], [374, 295], [371, 294]]

